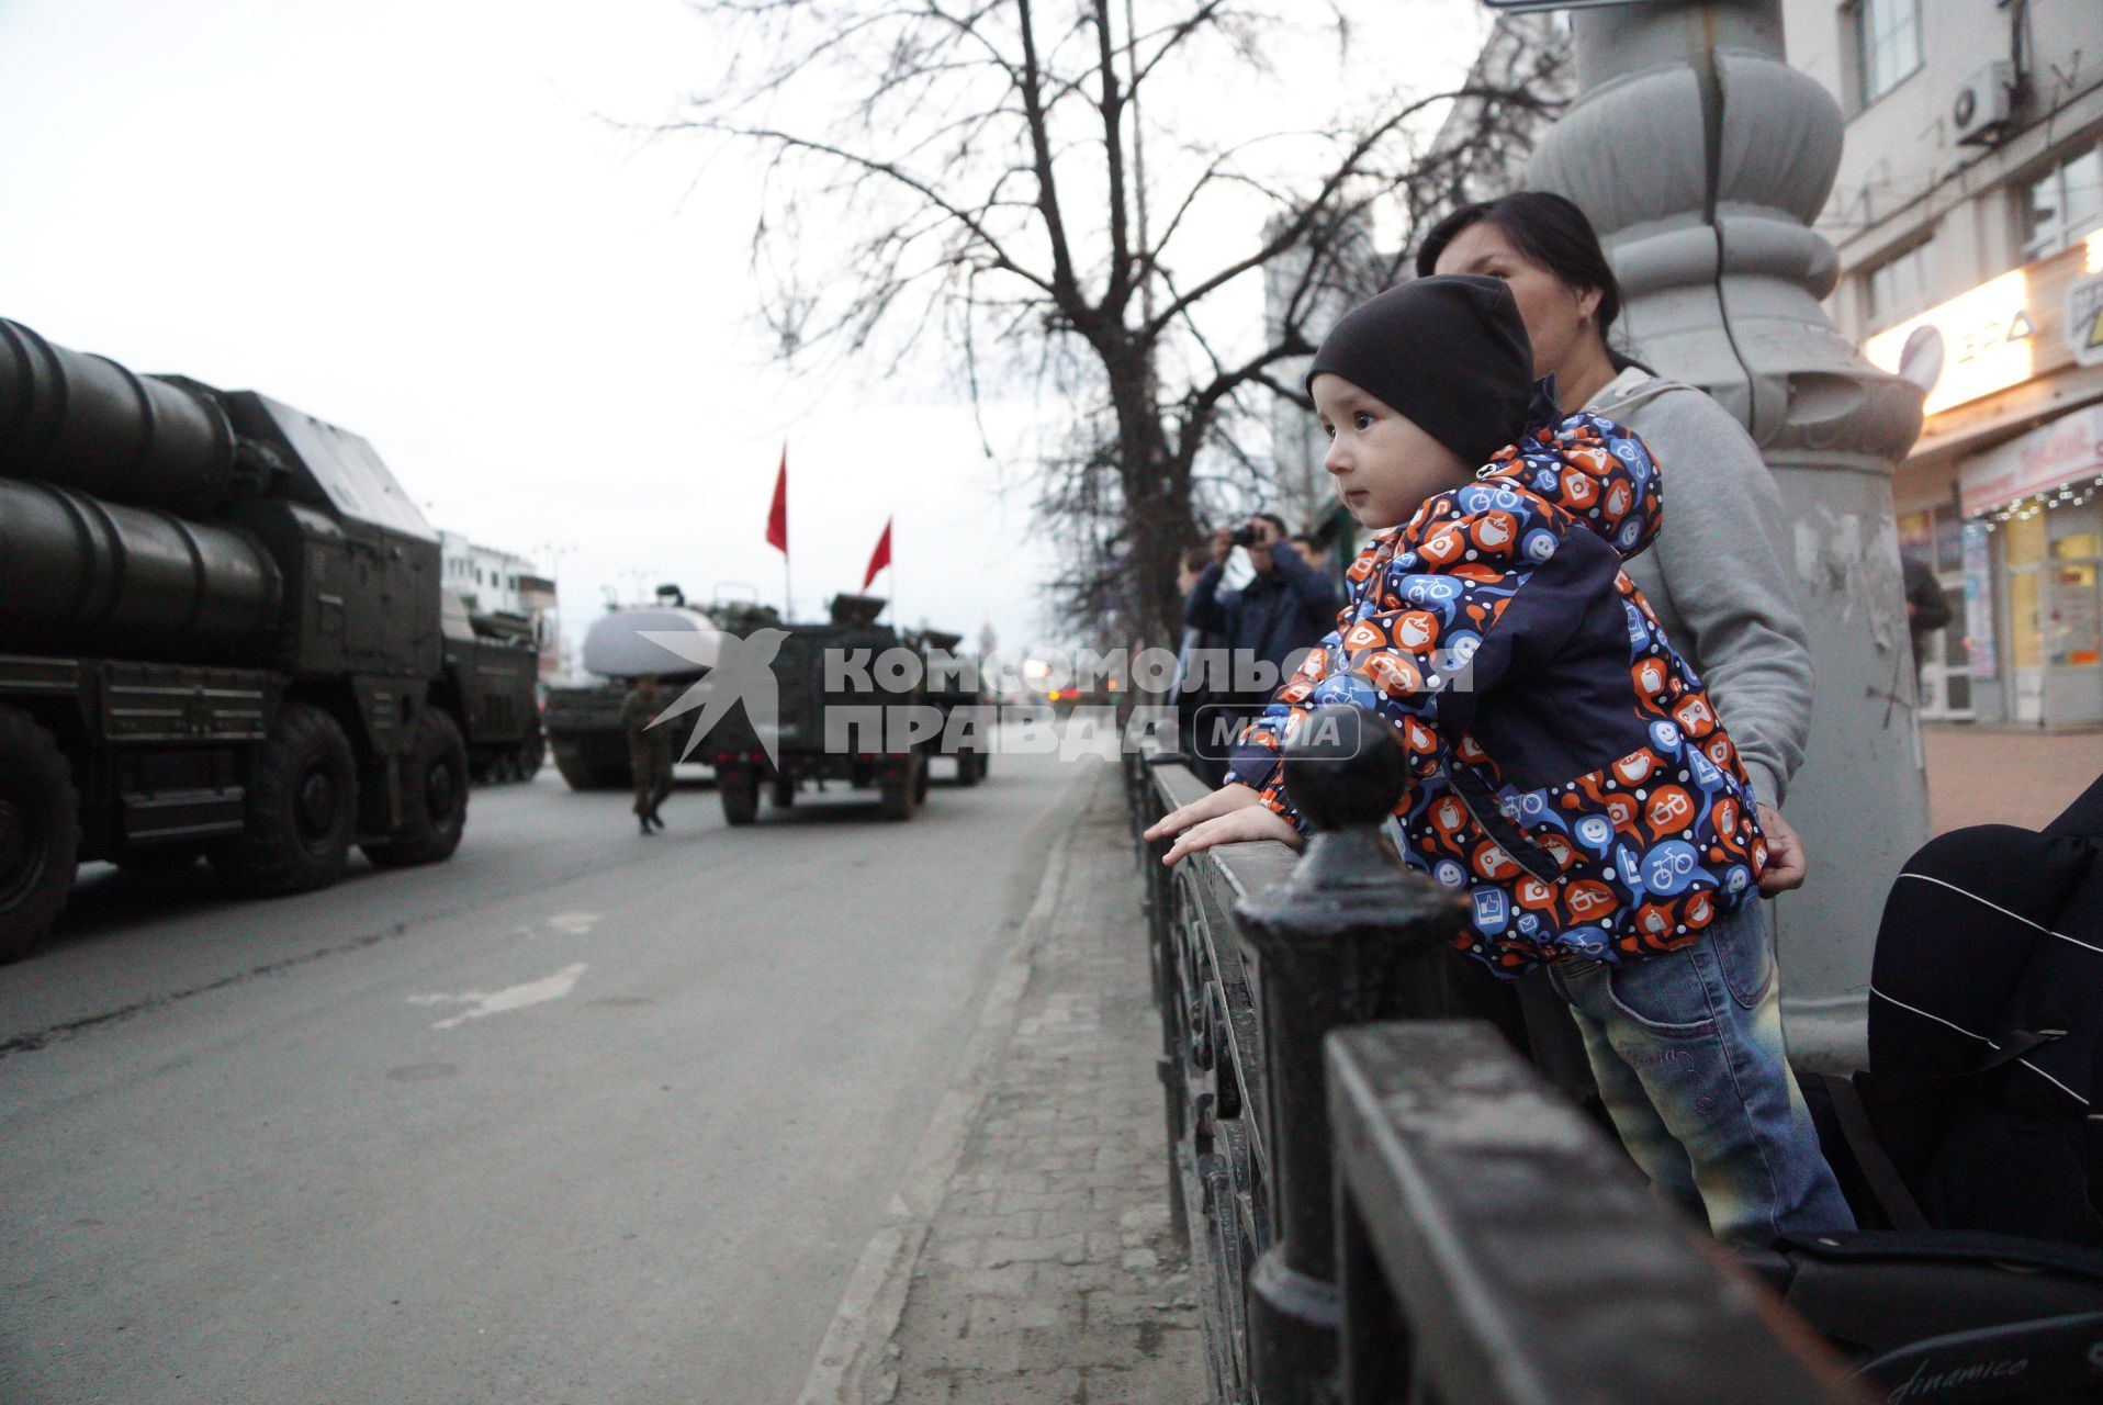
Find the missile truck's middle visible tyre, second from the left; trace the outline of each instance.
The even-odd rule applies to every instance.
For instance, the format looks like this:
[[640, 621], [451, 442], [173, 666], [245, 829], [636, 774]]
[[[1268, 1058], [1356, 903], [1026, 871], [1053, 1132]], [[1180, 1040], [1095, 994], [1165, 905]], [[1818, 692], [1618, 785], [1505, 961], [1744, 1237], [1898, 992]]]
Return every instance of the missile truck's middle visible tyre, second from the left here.
[[358, 824], [358, 759], [343, 726], [311, 702], [286, 702], [248, 772], [248, 833], [212, 850], [236, 892], [273, 896], [343, 877]]

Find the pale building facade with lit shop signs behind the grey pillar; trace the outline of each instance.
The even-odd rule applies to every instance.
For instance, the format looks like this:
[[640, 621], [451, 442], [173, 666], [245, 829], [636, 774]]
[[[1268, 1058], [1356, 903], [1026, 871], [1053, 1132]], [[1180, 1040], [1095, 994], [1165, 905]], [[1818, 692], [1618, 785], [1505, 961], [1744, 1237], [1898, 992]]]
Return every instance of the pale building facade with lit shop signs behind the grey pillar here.
[[1901, 551], [1952, 608], [1920, 715], [2103, 724], [2103, 4], [1785, 0], [1846, 114], [1834, 324], [1926, 389]]

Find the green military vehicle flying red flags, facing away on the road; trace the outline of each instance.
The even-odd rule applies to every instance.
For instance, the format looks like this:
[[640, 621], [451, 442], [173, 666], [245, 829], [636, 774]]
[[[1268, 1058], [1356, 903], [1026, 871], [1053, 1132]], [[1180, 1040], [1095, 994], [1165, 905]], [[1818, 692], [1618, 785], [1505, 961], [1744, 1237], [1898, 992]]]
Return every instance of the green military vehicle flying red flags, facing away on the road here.
[[[860, 734], [858, 740], [869, 749], [835, 749], [831, 745], [835, 738], [826, 736], [831, 709], [930, 702], [925, 648], [919, 639], [875, 623], [885, 604], [875, 595], [835, 595], [826, 623], [780, 627], [784, 637], [772, 665], [780, 709], [774, 755], [768, 755], [742, 707], [721, 719], [696, 751], [715, 766], [715, 785], [730, 824], [751, 824], [759, 818], [761, 789], [776, 808], [791, 808], [805, 780], [845, 780], [854, 789], [875, 789], [887, 820], [913, 818], [927, 799], [927, 761], [936, 755], [940, 738], [890, 749], [902, 738], [879, 730], [877, 736]], [[862, 650], [871, 660], [890, 650], [906, 650], [919, 656], [919, 675], [911, 681], [892, 681], [883, 669], [871, 669], [871, 688], [862, 688], [856, 677], [826, 677], [826, 654], [845, 658]], [[829, 688], [829, 681], [835, 686]]]

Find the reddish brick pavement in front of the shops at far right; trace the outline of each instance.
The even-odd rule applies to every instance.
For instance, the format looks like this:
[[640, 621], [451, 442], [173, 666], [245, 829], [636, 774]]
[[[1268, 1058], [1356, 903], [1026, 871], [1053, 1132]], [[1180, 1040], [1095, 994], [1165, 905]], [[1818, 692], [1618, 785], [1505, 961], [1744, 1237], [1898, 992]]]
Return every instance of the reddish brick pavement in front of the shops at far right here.
[[2103, 774], [2103, 732], [1924, 726], [1928, 820], [1935, 833], [1962, 824], [2040, 829]]

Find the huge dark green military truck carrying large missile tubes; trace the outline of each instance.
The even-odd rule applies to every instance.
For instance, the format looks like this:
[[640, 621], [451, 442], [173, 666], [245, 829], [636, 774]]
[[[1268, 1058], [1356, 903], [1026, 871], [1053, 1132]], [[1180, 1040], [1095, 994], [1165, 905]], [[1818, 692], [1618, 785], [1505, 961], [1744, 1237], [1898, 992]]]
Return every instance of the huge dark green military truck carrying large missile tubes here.
[[362, 437], [0, 322], [0, 957], [82, 860], [229, 888], [448, 858], [440, 543]]

